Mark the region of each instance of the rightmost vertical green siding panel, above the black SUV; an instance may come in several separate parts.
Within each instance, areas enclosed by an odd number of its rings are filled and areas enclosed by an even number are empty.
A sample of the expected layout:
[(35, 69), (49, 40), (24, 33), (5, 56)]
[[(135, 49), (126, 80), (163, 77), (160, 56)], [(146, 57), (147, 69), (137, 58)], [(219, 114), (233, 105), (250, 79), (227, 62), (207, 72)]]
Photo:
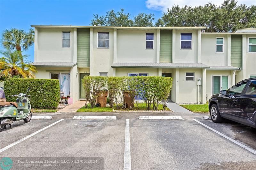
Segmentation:
[(242, 35), (231, 35), (231, 66), (242, 67)]

